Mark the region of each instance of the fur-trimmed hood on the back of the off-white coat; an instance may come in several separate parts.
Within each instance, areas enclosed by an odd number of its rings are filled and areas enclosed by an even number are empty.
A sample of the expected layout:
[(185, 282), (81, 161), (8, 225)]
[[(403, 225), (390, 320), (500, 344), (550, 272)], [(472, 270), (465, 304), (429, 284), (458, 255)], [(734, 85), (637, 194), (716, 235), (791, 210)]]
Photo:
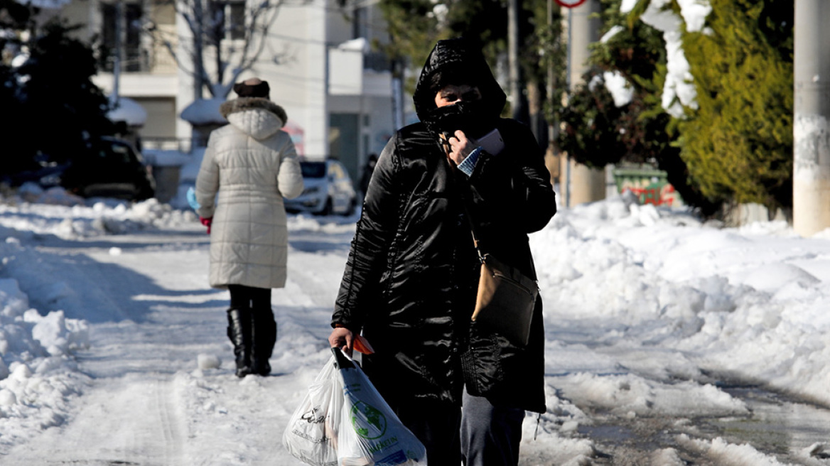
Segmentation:
[(286, 110), (261, 97), (240, 97), (219, 106), (227, 121), (252, 138), (263, 139), (286, 125)]

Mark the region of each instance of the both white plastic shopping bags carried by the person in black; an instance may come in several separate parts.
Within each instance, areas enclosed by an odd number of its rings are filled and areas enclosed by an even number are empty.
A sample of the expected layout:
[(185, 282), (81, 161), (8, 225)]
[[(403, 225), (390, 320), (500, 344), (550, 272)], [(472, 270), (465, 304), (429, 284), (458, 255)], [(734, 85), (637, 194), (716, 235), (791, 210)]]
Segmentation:
[(282, 435), (312, 466), (427, 466), (427, 449), (398, 420), (369, 377), (337, 348)]

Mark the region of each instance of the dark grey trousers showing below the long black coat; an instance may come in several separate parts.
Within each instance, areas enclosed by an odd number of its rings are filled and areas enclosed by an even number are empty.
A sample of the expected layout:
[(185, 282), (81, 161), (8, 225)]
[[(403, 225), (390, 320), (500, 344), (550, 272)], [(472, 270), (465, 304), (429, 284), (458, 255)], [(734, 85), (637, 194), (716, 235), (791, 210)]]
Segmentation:
[[(466, 466), (519, 464), (525, 410), (491, 405), (464, 391), (461, 400), (461, 460)], [(427, 457), (427, 461), (428, 461)]]

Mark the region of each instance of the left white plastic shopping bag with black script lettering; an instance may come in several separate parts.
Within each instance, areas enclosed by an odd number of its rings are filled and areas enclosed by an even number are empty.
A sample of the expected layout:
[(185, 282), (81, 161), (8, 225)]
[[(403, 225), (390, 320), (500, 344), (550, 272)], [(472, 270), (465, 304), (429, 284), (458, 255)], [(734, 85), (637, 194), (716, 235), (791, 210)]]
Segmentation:
[(344, 405), (342, 379), (338, 372), (332, 356), (311, 382), (309, 391), (282, 434), (282, 444), (289, 453), (312, 466), (338, 464), (335, 428)]

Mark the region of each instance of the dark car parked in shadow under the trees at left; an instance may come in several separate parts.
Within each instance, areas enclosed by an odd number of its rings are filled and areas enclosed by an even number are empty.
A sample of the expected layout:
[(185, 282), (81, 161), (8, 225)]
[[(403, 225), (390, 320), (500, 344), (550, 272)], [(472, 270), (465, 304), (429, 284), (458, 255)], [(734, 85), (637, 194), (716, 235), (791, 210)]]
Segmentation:
[(69, 163), (38, 160), (36, 170), (9, 175), (3, 181), (12, 187), (36, 182), (41, 187), (61, 186), (81, 197), (115, 197), (142, 201), (155, 196), (150, 167), (132, 144), (119, 138), (90, 141), (84, 153)]

